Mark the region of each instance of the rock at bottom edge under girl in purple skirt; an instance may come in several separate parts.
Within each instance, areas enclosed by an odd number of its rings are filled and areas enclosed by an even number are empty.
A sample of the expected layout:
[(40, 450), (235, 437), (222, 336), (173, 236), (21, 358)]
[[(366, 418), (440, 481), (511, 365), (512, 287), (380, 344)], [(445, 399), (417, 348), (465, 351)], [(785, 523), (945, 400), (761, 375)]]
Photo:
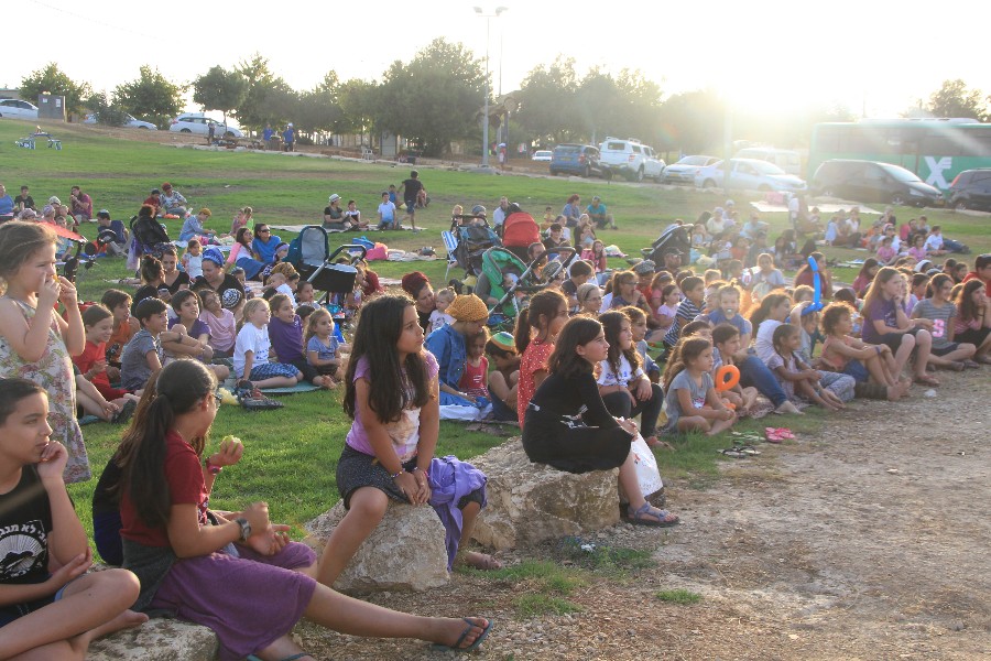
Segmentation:
[(213, 661), (217, 636), (206, 627), (155, 618), (89, 646), (87, 661)]

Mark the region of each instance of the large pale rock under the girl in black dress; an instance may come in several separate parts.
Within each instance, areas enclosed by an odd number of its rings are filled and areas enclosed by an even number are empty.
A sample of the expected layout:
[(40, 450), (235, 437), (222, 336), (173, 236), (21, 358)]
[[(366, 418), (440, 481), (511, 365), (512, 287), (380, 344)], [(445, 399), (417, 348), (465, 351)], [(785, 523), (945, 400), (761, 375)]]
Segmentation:
[(618, 469), (574, 475), (532, 464), (519, 437), (471, 463), (489, 478), (489, 505), (471, 535), (486, 546), (515, 549), (619, 522)]

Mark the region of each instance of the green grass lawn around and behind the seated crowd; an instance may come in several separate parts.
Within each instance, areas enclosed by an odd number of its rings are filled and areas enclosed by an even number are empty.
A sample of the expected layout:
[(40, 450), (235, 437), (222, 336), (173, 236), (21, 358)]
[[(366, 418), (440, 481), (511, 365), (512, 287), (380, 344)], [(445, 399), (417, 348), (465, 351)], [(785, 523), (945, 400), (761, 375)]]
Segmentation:
[[(33, 123), (0, 120), (0, 172), (12, 196), (22, 184), (31, 186), (39, 204), (51, 195), (68, 199), (69, 187), (80, 185), (92, 196), (95, 207), (108, 208), (115, 218), (127, 221), (137, 213), (148, 193), (171, 182), (195, 208), (213, 212), (208, 227), (228, 231), (237, 208), (249, 205), (258, 220), (272, 225), (318, 223), (327, 197), (340, 194), (345, 201), (358, 201), (368, 216), (374, 215), (379, 194), (389, 184), (399, 185), (409, 175), (407, 166), (389, 166), (351, 161), (309, 159), (236, 152), (213, 152), (175, 149), (170, 145), (106, 138), (86, 128), (50, 126), (63, 139), (63, 150), (18, 149), (13, 141), (31, 132)], [(167, 133), (162, 136), (168, 141)], [(421, 167), (421, 178), (433, 199), (427, 209), (417, 213), (417, 225), (425, 231), (370, 234), (369, 238), (405, 250), (433, 246), (443, 253), (440, 231), (447, 229), (450, 208), (461, 204), (466, 208), (481, 203), (492, 209), (500, 196), (521, 204), (534, 216), (542, 216), (549, 205), (555, 213), (568, 195), (577, 193), (588, 201), (600, 195), (616, 215), (619, 230), (602, 232), (607, 243), (616, 243), (623, 251), (639, 256), (661, 230), (675, 218), (691, 220), (705, 209), (721, 204), (722, 195), (707, 194), (691, 188), (662, 187), (653, 184), (630, 185), (603, 181), (579, 181), (564, 177), (482, 176)], [(734, 193), (737, 207), (759, 199)], [(915, 209), (899, 210), (900, 220), (916, 215)], [(945, 210), (927, 212), (930, 224), (944, 227), (947, 237), (968, 243), (974, 254), (991, 250), (991, 220), (983, 215), (955, 214)], [(870, 218), (870, 216), (868, 216)], [(786, 214), (764, 214), (772, 226), (772, 238), (786, 225)], [(170, 234), (178, 236), (181, 221), (168, 221)], [(91, 232), (95, 226), (84, 228)], [(293, 237), (277, 232), (284, 240)], [(827, 249), (830, 257), (856, 259), (865, 252)], [(618, 260), (613, 260), (618, 261)], [(374, 270), (383, 277), (400, 278), (411, 270), (424, 271), (435, 283), (444, 275), (445, 261), (374, 262)], [(128, 275), (122, 259), (101, 259), (96, 268), (80, 271), (80, 297), (99, 300), (102, 292), (118, 279)], [(852, 281), (856, 273), (839, 269), (835, 277)], [(265, 499), (273, 519), (298, 525), (328, 509), (338, 499), (335, 468), (350, 421), (340, 409), (337, 392), (314, 392), (285, 398), (286, 407), (277, 411), (248, 413), (240, 408), (222, 407), (215, 423), (216, 444), (225, 434), (240, 436), (248, 452), (238, 466), (225, 470), (217, 481), (211, 505), (219, 509), (235, 509), (242, 503)], [(807, 416), (803, 424), (819, 424), (821, 418)], [(759, 422), (759, 421), (758, 421)], [(793, 421), (788, 421), (789, 423)], [(750, 423), (754, 429), (758, 423)], [(792, 425), (794, 429), (794, 425)], [(749, 427), (743, 427), (749, 429)], [(119, 440), (120, 427), (94, 424), (84, 427), (86, 445), (95, 473), (102, 470)], [(461, 458), (486, 452), (501, 438), (483, 433), (467, 432), (462, 425), (443, 423), (438, 453), (457, 454)], [(729, 440), (682, 438), (675, 443), (677, 453), (660, 454), (665, 478), (705, 481), (716, 475), (716, 452), (730, 445)], [(208, 449), (210, 452), (210, 449)], [(70, 488), (80, 503), (90, 500), (95, 480)], [(80, 507), (87, 510), (87, 507)], [(89, 512), (80, 511), (89, 525)]]

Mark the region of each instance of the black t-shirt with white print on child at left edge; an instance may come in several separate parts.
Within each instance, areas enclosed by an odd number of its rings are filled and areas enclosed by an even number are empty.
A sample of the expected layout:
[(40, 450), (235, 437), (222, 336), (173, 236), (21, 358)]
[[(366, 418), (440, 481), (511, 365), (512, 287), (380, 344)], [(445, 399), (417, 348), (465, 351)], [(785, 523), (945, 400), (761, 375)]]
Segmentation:
[(34, 465), (0, 495), (0, 584), (43, 583), (48, 578), (52, 506)]

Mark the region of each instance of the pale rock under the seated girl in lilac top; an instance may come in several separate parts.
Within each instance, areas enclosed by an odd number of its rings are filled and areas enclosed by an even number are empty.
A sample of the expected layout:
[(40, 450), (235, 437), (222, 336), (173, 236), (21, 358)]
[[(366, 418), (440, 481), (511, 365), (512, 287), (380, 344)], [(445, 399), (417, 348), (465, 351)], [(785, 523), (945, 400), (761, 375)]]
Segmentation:
[[(347, 510), (344, 501), (306, 524), (303, 540), (318, 553)], [(382, 521), (355, 553), (334, 588), (346, 593), (415, 590), (446, 585), (444, 524), (429, 506), (389, 501)]]

